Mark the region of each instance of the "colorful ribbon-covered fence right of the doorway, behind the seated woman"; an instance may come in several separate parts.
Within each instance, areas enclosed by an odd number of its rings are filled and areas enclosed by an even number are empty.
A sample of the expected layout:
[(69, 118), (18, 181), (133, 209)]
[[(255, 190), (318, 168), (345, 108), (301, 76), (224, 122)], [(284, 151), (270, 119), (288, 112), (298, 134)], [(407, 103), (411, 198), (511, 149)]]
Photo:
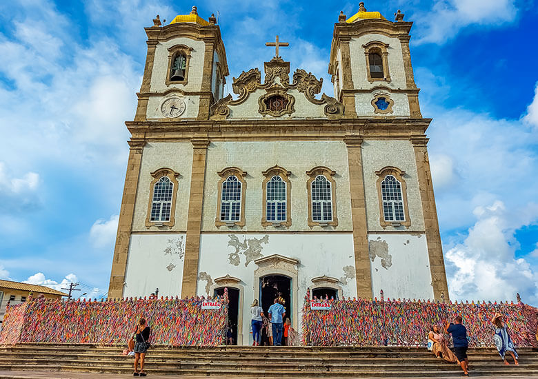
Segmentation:
[(330, 309), (303, 306), (301, 345), (426, 346), (432, 325), (441, 329), (463, 318), (470, 347), (495, 347), (491, 319), (502, 314), (518, 347), (536, 347), (538, 309), (523, 303), (432, 303), (429, 301), (323, 300)]

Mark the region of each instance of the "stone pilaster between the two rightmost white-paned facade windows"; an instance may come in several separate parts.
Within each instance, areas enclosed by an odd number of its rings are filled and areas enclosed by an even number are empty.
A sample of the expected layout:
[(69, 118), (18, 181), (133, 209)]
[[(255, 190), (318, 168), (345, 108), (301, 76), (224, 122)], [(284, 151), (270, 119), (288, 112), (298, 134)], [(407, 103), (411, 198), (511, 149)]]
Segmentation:
[(353, 248), (355, 250), (355, 277), (357, 296), (372, 298), (372, 274), (368, 252), (368, 226), (366, 223), (366, 196), (362, 167), (362, 137), (348, 136), (343, 139), (348, 147), (349, 183), (351, 194), (351, 218), (353, 223)]

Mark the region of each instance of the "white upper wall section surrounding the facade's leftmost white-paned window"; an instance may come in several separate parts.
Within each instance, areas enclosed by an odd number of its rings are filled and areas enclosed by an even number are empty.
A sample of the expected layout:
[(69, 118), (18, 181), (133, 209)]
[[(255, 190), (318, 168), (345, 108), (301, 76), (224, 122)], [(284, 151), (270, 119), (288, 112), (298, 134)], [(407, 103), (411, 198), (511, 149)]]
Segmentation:
[(192, 172), (192, 144), (190, 142), (148, 142), (144, 146), (140, 177), (135, 203), (135, 215), (132, 221), (134, 232), (147, 231), (146, 217), (150, 201), (150, 183), (153, 181), (151, 172), (168, 167), (179, 172), (175, 225), (168, 227), (150, 227), (150, 231), (174, 230), (186, 231), (187, 214), (190, 196), (190, 176)]

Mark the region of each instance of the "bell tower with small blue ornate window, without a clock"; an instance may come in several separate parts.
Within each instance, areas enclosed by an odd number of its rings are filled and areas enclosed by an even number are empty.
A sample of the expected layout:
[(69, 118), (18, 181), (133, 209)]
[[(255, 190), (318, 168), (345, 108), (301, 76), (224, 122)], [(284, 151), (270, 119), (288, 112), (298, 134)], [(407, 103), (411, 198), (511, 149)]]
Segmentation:
[(409, 52), (412, 22), (404, 22), (400, 12), (395, 18), (368, 12), (362, 2), (349, 19), (340, 13), (329, 74), (347, 116), (422, 117)]

